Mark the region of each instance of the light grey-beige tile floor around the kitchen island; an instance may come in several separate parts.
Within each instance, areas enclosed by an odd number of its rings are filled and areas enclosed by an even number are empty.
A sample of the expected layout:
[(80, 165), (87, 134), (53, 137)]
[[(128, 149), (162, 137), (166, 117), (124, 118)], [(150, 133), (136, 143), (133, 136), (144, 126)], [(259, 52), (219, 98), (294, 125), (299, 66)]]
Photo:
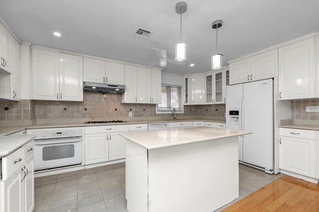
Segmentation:
[[(239, 164), (239, 198), (283, 176)], [(127, 212), (125, 163), (34, 179), (34, 212)]]

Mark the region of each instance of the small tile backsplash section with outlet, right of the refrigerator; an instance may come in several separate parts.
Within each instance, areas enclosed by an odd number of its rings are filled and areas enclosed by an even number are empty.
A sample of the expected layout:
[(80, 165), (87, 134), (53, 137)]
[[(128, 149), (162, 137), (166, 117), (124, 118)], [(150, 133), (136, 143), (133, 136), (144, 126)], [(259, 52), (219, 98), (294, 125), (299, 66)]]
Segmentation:
[(306, 106), (319, 106), (319, 98), (292, 100), (292, 119), (319, 120), (319, 112), (306, 112)]

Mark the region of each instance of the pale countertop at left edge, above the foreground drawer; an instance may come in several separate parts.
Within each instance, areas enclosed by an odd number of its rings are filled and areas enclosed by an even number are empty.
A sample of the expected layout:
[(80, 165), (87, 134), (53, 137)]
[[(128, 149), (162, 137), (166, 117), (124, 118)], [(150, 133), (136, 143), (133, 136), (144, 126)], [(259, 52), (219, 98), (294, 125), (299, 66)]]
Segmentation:
[(9, 155), (34, 138), (35, 136), (31, 135), (0, 136), (0, 158)]

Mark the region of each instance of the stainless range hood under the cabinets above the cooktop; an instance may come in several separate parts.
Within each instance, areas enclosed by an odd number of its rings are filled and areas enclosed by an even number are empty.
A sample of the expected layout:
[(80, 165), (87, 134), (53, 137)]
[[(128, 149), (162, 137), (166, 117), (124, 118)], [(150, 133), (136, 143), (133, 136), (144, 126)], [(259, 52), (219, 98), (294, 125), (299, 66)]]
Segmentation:
[(97, 82), (83, 82), (83, 91), (94, 93), (124, 93), (125, 85), (106, 84)]

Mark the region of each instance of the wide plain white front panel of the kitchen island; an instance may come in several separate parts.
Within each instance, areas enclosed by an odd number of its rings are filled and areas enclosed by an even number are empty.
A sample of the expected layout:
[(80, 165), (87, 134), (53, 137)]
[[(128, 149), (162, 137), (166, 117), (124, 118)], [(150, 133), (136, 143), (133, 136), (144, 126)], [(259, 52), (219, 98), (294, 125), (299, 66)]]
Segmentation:
[(238, 137), (152, 149), (148, 163), (149, 212), (212, 212), (239, 197)]

